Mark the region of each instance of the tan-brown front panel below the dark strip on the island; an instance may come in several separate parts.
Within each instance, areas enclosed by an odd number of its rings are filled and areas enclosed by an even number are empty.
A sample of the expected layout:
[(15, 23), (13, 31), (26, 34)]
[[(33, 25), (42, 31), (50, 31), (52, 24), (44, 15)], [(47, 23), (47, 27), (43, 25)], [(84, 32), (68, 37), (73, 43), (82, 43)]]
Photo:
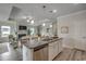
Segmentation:
[(48, 61), (48, 46), (34, 52), (34, 61)]

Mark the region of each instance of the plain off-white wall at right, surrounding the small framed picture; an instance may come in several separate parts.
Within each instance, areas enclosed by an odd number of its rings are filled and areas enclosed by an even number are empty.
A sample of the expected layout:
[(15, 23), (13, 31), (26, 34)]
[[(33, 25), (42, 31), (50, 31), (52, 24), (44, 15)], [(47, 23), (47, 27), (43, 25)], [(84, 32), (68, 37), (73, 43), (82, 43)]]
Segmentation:
[[(62, 26), (69, 27), (69, 34), (61, 34)], [(58, 35), (63, 46), (86, 50), (86, 10), (58, 17)]]

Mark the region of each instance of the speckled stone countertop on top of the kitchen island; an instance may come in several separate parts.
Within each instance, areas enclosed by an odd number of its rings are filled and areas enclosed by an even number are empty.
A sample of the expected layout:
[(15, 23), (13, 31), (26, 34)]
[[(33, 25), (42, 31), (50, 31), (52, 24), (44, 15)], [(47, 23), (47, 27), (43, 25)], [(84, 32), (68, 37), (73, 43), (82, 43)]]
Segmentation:
[(62, 38), (54, 38), (54, 39), (48, 40), (48, 41), (47, 40), (46, 41), (42, 41), (42, 40), (40, 40), (40, 41), (38, 41), (38, 40), (30, 40), (28, 42), (24, 42), (23, 44), (26, 46), (29, 49), (34, 49), (34, 48), (37, 48), (39, 46), (45, 46), (45, 44), (48, 44), (50, 42), (53, 42), (53, 41), (60, 40), (60, 39), (62, 39)]

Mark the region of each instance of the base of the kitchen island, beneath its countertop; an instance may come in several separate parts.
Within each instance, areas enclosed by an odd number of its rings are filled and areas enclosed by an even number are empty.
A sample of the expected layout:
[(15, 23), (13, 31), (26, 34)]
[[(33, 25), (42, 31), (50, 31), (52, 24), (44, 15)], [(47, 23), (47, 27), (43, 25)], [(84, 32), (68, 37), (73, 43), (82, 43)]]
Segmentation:
[(62, 51), (62, 39), (51, 41), (48, 44), (39, 46), (34, 49), (23, 44), (24, 61), (52, 61)]

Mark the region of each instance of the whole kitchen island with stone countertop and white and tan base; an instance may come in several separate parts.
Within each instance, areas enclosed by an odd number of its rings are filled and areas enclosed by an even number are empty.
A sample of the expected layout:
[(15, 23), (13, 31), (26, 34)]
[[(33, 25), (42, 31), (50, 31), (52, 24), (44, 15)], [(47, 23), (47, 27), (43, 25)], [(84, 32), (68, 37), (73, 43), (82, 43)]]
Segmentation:
[(52, 61), (62, 51), (62, 38), (23, 43), (23, 61)]

